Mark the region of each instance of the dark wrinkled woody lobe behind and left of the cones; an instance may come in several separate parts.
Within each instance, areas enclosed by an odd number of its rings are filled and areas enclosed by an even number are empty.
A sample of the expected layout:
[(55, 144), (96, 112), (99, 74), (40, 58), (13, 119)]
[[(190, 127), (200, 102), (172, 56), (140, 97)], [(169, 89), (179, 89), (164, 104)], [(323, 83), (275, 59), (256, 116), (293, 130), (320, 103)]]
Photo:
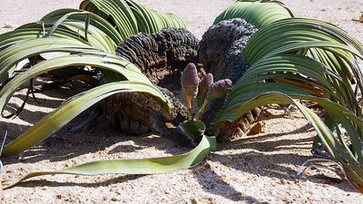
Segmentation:
[(189, 31), (166, 28), (160, 34), (134, 35), (120, 44), (116, 53), (135, 63), (152, 83), (179, 91), (181, 73), (188, 63), (196, 63), (203, 73), (198, 48), (199, 40)]

